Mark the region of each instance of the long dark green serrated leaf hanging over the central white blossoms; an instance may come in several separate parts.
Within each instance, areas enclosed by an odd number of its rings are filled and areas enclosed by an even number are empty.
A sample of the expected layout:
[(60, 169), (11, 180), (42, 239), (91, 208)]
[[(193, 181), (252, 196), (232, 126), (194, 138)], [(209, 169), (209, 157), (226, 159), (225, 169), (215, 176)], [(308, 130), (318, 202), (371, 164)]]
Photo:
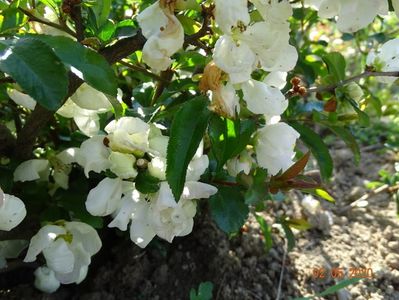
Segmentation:
[(194, 98), (177, 111), (170, 130), (166, 179), (176, 201), (183, 192), (187, 167), (205, 134), (211, 112), (209, 100)]

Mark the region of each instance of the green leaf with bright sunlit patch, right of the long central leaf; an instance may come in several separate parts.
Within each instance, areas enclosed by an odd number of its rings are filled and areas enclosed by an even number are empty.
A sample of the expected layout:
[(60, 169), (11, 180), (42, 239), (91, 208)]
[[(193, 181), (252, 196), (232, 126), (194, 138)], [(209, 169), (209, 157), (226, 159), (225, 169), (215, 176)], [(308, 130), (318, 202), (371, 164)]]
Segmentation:
[(230, 120), (216, 115), (211, 118), (208, 132), (219, 170), (245, 149), (255, 129), (252, 120)]

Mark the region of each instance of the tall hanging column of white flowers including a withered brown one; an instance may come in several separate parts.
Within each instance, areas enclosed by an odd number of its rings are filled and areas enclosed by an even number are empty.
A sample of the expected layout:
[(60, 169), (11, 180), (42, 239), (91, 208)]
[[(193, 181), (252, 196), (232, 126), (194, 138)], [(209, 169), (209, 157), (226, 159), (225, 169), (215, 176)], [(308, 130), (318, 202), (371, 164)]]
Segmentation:
[[(250, 112), (265, 116), (266, 126), (255, 135), (255, 152), (259, 166), (276, 175), (293, 163), (299, 138), (293, 128), (279, 123), (288, 107), (280, 89), (286, 84), (286, 72), (298, 59), (295, 47), (289, 44), (292, 7), (288, 1), (252, 2), (263, 18), (260, 22), (250, 22), (245, 0), (215, 1), (215, 20), (224, 34), (216, 42), (213, 62), (205, 68), (200, 88), (212, 91), (212, 108), (223, 116), (235, 118), (240, 113), (237, 90), (242, 91)], [(258, 68), (270, 72), (263, 81), (251, 78)], [(230, 160), (227, 168), (233, 176), (241, 171), (248, 174), (252, 162), (244, 151)]]

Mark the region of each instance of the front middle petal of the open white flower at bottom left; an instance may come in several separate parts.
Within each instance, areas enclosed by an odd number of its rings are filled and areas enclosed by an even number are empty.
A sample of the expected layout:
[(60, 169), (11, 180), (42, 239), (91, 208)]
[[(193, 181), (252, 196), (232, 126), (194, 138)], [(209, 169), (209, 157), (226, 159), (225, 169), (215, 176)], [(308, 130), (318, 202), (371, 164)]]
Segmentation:
[(43, 249), (47, 266), (56, 273), (70, 273), (73, 270), (75, 257), (67, 242), (60, 238)]

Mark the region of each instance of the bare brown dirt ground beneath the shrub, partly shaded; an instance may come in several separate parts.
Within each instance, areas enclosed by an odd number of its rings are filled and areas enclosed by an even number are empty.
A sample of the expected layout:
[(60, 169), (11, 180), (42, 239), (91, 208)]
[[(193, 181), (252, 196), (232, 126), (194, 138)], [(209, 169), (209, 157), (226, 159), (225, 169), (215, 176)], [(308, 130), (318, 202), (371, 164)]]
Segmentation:
[(367, 193), (365, 180), (378, 178), (381, 168), (393, 168), (394, 157), (373, 147), (362, 152), (361, 164), (356, 167), (344, 145), (334, 146), (336, 171), (330, 191), (337, 203), (322, 202), (321, 217), (312, 219), (304, 212), (299, 193), (291, 193), (288, 201), (268, 204), (264, 217), (269, 224), (274, 211), (307, 216), (314, 225), (295, 232), (297, 244), (289, 253), (281, 230), (273, 227), (274, 246), (266, 254), (253, 217), (245, 230), (229, 239), (202, 214), (188, 237), (176, 239), (172, 245), (159, 241), (145, 250), (107, 229), (103, 251), (93, 259), (81, 285), (63, 286), (55, 294), (43, 295), (32, 287), (34, 266), (16, 267), (0, 271), (0, 299), (189, 299), (190, 289), (204, 281), (214, 284), (213, 299), (292, 299), (334, 285), (335, 279), (329, 276), (314, 278), (316, 267), (327, 272), (337, 267), (346, 272), (352, 267), (373, 270), (373, 279), (324, 299), (399, 299), (395, 203), (381, 193), (371, 197), (366, 207), (348, 206)]

